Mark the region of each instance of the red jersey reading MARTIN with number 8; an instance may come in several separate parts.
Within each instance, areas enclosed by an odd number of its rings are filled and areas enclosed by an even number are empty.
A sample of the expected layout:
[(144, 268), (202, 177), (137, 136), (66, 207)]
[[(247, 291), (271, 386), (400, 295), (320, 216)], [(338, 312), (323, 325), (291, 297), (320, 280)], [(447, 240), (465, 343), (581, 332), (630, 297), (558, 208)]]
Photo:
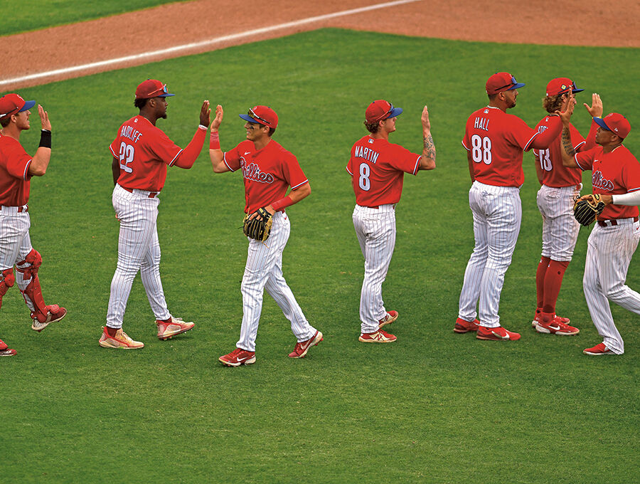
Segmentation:
[(405, 173), (417, 174), (420, 154), (400, 144), (365, 136), (351, 147), (346, 171), (351, 175), (356, 204), (379, 206), (397, 204), (402, 195)]

